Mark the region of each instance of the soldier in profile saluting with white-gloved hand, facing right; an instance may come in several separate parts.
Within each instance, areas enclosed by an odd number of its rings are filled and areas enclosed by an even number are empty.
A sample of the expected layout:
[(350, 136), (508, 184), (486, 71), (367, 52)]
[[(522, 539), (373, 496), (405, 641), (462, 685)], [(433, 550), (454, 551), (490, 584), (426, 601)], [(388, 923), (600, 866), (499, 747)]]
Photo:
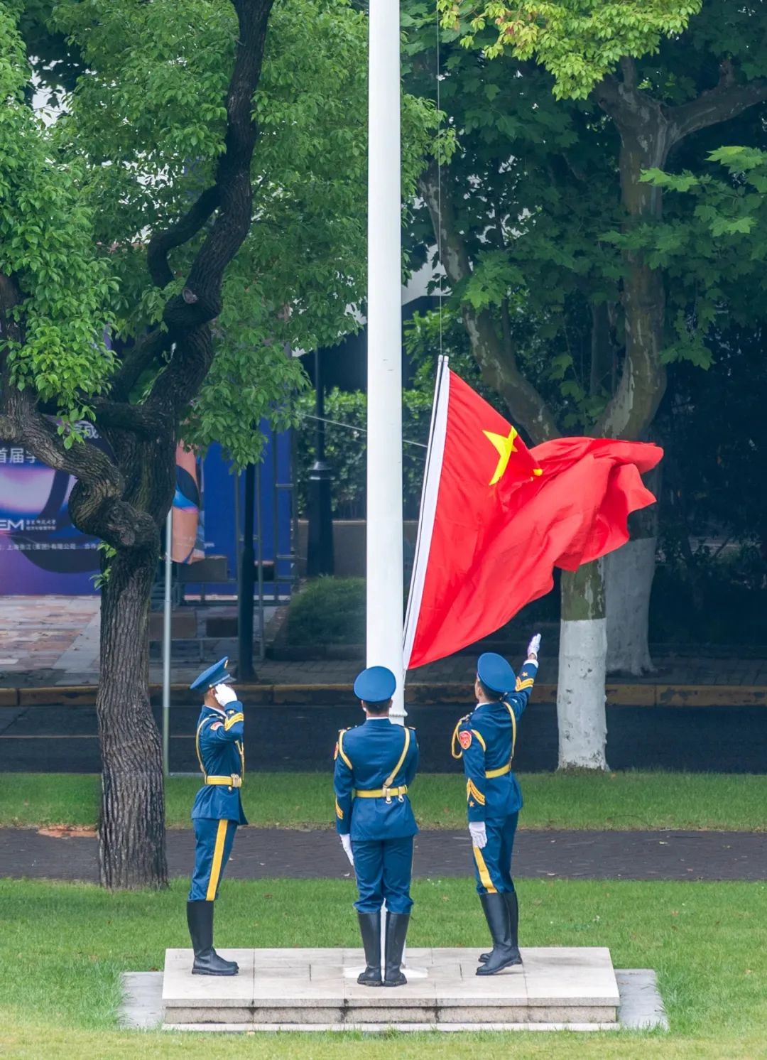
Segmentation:
[(227, 682), (228, 658), (219, 659), (190, 685), (204, 691), (195, 745), (202, 787), (192, 807), (195, 867), (186, 902), (186, 922), (195, 959), (193, 975), (236, 975), (235, 960), (213, 949), (213, 903), (234, 842), (237, 825), (247, 825), (239, 789), (245, 773), (243, 704)]

